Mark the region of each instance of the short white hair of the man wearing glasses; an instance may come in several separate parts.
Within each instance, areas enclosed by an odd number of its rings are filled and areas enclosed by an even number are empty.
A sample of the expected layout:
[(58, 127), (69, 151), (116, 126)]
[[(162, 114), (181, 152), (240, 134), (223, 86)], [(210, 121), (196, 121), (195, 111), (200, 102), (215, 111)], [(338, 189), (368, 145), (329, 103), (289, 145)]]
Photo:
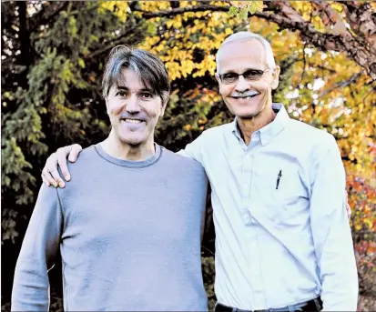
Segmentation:
[(259, 40), (261, 45), (264, 46), (265, 49), (265, 55), (266, 55), (266, 65), (269, 69), (274, 69), (276, 66), (276, 61), (274, 60), (273, 56), (273, 50), (271, 49), (271, 46), (269, 44), (269, 41), (265, 39), (262, 35), (255, 34), (255, 33), (250, 33), (250, 32), (239, 32), (235, 33), (232, 35), (229, 35), (226, 40), (219, 46), (217, 55), (216, 55), (216, 62), (217, 62), (217, 73), (219, 73), (219, 53), (220, 53), (220, 48), (223, 45), (228, 44), (229, 42), (234, 42), (234, 41), (246, 41), (246, 40)]

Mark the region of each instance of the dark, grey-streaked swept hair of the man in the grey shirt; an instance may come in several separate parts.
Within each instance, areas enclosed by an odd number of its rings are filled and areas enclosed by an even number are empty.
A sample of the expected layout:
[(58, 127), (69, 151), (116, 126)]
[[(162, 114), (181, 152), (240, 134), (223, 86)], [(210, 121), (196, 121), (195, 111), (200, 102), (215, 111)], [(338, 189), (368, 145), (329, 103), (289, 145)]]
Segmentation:
[(141, 79), (144, 86), (150, 88), (155, 95), (160, 96), (162, 105), (168, 102), (170, 83), (168, 71), (158, 56), (142, 49), (130, 48), (127, 45), (114, 47), (106, 64), (102, 80), (102, 95), (108, 96), (111, 86), (124, 86), (122, 70), (133, 70)]

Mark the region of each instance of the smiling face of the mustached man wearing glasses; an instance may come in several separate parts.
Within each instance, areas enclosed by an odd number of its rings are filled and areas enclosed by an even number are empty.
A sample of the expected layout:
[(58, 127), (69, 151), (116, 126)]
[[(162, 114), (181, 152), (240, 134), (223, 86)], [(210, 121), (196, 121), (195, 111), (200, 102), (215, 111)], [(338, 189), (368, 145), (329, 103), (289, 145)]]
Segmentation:
[[(217, 61), (219, 92), (235, 116), (252, 118), (271, 107), (271, 90), (278, 86), (279, 66), (267, 68), (265, 49), (259, 40), (229, 42), (220, 48)], [(246, 78), (239, 76), (231, 82), (234, 74), (244, 73)]]

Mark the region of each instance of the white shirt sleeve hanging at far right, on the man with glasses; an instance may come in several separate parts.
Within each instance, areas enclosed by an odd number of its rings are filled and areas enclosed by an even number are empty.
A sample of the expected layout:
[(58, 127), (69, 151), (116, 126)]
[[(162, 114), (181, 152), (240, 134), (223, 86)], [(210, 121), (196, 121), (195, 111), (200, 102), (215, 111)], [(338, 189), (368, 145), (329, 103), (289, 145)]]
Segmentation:
[(345, 171), (333, 136), (311, 167), (310, 221), (324, 311), (356, 311), (358, 274), (346, 215)]

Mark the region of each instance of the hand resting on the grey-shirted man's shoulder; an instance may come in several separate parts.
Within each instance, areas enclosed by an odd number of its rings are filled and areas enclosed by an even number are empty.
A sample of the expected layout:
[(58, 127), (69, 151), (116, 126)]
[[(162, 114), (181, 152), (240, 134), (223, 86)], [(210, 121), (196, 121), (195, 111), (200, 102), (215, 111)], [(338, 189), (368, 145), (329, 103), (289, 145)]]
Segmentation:
[(45, 182), (47, 186), (53, 185), (55, 187), (65, 187), (66, 184), (59, 175), (57, 166), (60, 166), (65, 180), (69, 181), (70, 175), (68, 167), (66, 166), (66, 156), (68, 156), (68, 159), (71, 163), (74, 163), (81, 151), (82, 146), (78, 144), (58, 148), (56, 152), (51, 154), (51, 156), (49, 156), (46, 160), (46, 165), (42, 170), (43, 182)]

